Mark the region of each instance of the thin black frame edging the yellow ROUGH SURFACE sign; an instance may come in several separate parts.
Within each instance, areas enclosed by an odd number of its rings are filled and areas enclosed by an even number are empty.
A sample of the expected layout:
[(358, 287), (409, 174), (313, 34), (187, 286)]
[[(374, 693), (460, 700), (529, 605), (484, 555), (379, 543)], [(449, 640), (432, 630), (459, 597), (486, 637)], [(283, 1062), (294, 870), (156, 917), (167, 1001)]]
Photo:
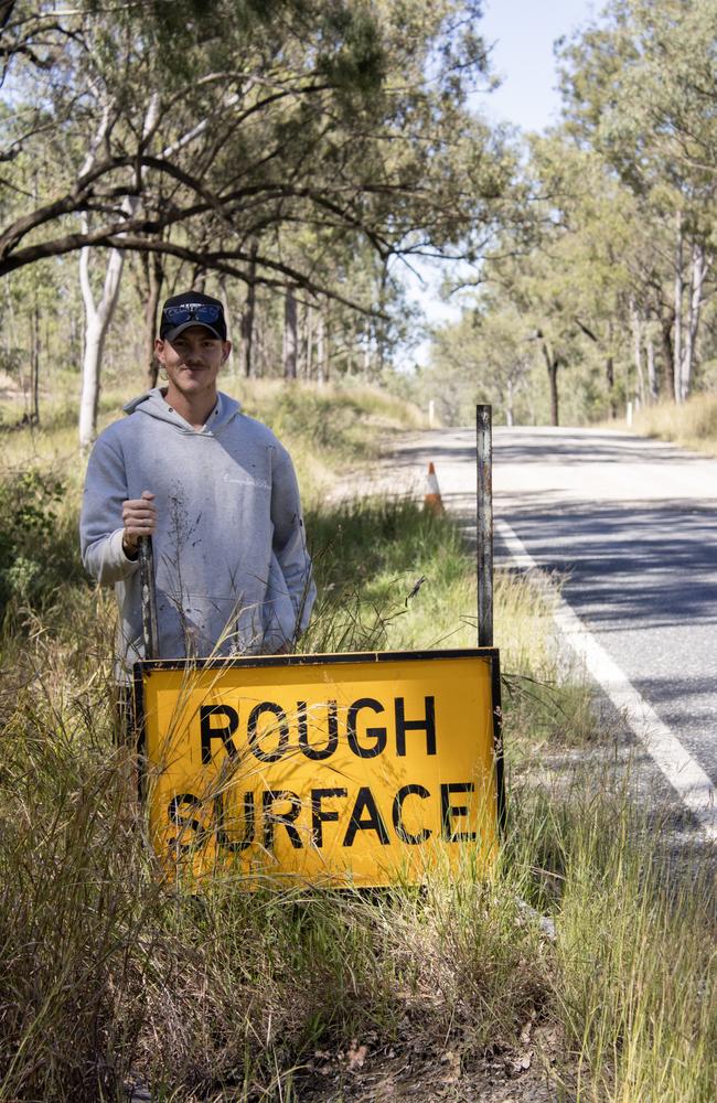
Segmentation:
[(143, 658), (133, 665), (133, 730), (138, 760), (138, 793), (140, 803), (147, 803), (148, 777), (146, 757), (146, 703), (145, 677), (152, 671), (222, 671), (312, 666), (342, 666), (355, 663), (376, 665), (384, 663), (414, 663), (457, 658), (483, 658), (490, 663), (491, 703), (493, 713), (493, 763), (495, 771), (495, 824), (499, 843), (505, 836), (506, 800), (503, 758), (503, 713), (501, 704), (500, 653), (496, 647), (456, 647), (435, 651), (368, 651), (328, 654), (292, 655), (237, 655), (214, 658)]

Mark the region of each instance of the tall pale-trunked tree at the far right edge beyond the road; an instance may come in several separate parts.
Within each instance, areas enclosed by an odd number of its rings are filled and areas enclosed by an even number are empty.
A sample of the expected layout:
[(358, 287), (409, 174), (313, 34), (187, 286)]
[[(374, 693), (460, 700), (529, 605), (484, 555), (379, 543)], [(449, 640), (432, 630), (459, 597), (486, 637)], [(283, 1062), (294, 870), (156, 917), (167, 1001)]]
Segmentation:
[(567, 128), (619, 174), (661, 243), (653, 310), (656, 300), (677, 401), (689, 393), (714, 289), (716, 51), (713, 0), (612, 0), (561, 52)]

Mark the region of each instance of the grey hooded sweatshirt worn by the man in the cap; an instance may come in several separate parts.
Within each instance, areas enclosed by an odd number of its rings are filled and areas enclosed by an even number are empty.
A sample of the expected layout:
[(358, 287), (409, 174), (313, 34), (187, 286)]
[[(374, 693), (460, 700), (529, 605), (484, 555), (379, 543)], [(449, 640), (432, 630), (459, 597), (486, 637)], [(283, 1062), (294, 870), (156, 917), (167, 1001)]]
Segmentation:
[(291, 459), (220, 394), (196, 432), (159, 389), (128, 403), (89, 458), (79, 536), (86, 570), (114, 583), (117, 677), (143, 655), (139, 565), (122, 552), (122, 502), (156, 495), (160, 656), (274, 653), (315, 597)]

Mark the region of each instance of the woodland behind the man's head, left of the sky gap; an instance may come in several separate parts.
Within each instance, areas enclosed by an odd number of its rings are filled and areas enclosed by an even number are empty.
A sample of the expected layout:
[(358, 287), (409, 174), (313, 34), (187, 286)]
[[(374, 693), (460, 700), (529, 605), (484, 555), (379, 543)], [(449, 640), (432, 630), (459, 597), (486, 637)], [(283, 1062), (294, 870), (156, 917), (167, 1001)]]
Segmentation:
[[(478, 255), (514, 153), (471, 115), (479, 6), (4, 2), (2, 371), (26, 419), (156, 381), (158, 303), (218, 293), (245, 376), (381, 376), (399, 259)], [(237, 366), (236, 364), (234, 365)]]

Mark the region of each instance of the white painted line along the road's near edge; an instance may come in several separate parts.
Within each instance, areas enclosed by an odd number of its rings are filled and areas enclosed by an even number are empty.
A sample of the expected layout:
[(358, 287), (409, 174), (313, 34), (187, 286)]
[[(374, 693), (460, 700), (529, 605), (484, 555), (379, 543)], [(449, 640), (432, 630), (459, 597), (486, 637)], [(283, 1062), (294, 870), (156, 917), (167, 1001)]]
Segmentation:
[[(514, 564), (525, 569), (539, 567), (523, 542), (505, 521), (496, 521), (495, 529), (506, 545)], [(545, 578), (545, 576), (544, 576)], [(547, 578), (545, 583), (549, 585)], [(634, 688), (627, 675), (607, 653), (564, 598), (555, 592), (554, 619), (567, 642), (584, 660), (586, 670), (604, 689), (616, 708), (644, 745), (684, 804), (694, 813), (703, 833), (717, 840), (717, 807), (715, 786), (698, 762), (682, 746), (652, 705)]]

